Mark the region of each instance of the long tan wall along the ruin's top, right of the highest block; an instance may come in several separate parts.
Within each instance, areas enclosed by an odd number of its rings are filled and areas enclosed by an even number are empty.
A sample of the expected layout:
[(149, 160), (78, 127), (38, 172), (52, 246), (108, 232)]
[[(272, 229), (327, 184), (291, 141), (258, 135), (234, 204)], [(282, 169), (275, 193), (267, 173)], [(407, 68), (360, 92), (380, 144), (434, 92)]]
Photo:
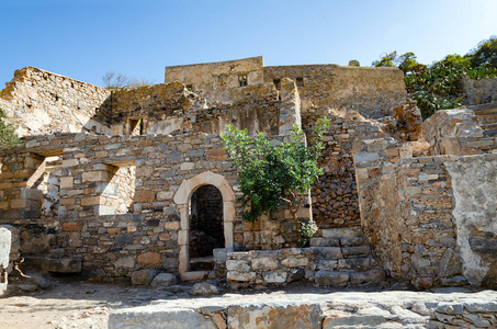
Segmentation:
[(355, 110), (365, 117), (392, 115), (407, 93), (404, 75), (397, 68), (370, 68), (337, 65), (264, 67), (264, 81), (283, 78), (297, 80), (302, 112), (330, 106)]

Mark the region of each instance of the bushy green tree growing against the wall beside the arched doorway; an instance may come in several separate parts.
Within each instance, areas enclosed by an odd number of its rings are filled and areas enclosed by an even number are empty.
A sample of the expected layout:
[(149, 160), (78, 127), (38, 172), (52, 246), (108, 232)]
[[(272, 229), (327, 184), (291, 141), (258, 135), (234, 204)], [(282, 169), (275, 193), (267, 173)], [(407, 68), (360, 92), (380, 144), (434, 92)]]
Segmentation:
[(304, 195), (323, 174), (318, 157), (325, 148), (323, 134), (328, 127), (326, 117), (319, 120), (305, 145), (303, 132), (294, 126), (290, 140), (272, 146), (262, 133), (252, 138), (246, 129), (228, 126), (222, 138), (231, 166), (239, 168), (241, 202), (248, 209), (242, 214), (244, 220), (257, 220), (284, 203), (292, 214), (301, 243), (316, 231), (317, 228), (313, 230), (306, 225), (302, 229), (297, 212)]

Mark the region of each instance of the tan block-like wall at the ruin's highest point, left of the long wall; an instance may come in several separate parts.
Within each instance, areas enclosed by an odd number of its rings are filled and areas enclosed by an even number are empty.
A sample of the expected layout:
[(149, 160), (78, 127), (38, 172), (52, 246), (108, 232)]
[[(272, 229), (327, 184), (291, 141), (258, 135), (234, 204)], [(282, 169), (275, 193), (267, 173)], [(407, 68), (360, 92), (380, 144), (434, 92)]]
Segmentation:
[(248, 86), (263, 82), (263, 59), (251, 57), (238, 60), (169, 66), (166, 67), (165, 82), (180, 81), (192, 87), (192, 91), (210, 102), (231, 103), (239, 101), (236, 95), (238, 77), (247, 76)]

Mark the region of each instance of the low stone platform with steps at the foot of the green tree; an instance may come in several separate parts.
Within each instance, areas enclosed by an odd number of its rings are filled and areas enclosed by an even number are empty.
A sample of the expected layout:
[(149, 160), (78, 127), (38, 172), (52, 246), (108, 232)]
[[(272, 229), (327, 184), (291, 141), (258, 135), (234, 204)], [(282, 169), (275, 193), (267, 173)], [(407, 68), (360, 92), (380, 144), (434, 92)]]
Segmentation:
[[(357, 242), (364, 243), (362, 234)], [(343, 256), (342, 250), (363, 247), (366, 247), (365, 253)], [(377, 268), (369, 246), (229, 252), (226, 269), (228, 284), (234, 288), (285, 286), (300, 280), (320, 286), (347, 286), (377, 284), (385, 279), (385, 272)]]

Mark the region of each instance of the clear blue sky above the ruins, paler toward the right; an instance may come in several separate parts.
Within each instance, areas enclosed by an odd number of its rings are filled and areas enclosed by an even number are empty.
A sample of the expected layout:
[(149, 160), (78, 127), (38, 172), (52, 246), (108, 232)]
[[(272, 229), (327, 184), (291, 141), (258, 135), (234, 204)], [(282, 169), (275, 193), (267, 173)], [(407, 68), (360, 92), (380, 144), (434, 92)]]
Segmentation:
[(260, 55), (430, 64), (497, 35), (496, 16), (496, 0), (1, 0), (0, 89), (25, 66), (101, 86), (108, 71), (159, 83), (166, 66)]

